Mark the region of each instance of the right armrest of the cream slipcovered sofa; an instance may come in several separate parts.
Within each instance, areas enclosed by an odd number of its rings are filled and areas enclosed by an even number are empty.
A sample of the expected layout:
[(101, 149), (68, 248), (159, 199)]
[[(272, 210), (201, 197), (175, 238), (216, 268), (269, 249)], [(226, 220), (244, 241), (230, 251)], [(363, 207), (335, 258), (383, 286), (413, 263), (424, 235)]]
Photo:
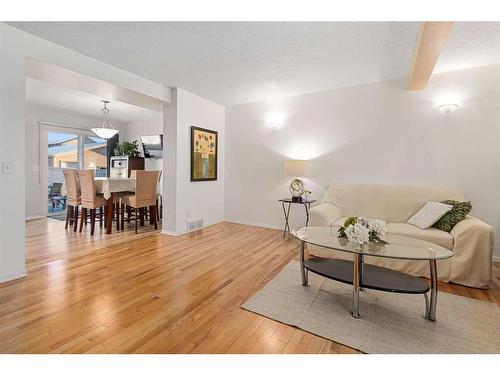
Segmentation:
[(488, 288), (491, 281), (493, 228), (473, 216), (459, 222), (453, 236), (450, 281), (475, 288)]

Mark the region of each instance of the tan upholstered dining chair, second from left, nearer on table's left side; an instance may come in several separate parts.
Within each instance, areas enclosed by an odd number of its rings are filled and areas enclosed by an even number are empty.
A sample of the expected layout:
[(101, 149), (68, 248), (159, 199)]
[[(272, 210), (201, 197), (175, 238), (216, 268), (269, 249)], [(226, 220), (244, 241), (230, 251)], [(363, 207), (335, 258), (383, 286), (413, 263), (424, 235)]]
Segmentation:
[(82, 205), (82, 217), (80, 220), (79, 232), (83, 229), (83, 224), (87, 217), (87, 210), (89, 210), (90, 216), (90, 235), (94, 235), (95, 231), (95, 218), (96, 209), (100, 209), (100, 217), (102, 226), (102, 216), (104, 207), (107, 204), (104, 197), (98, 196), (96, 194), (96, 188), (94, 183), (94, 171), (91, 169), (78, 171), (78, 178), (80, 179), (80, 189), (81, 189), (81, 205)]

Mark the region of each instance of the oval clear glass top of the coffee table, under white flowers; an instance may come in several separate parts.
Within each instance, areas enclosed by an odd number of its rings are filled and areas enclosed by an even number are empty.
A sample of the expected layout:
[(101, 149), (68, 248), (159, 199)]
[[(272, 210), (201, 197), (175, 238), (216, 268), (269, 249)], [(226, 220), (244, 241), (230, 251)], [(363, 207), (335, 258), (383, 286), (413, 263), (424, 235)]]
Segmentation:
[(388, 233), (384, 243), (370, 242), (358, 245), (347, 238), (338, 238), (339, 227), (305, 227), (291, 234), (305, 243), (335, 251), (394, 259), (441, 260), (453, 256), (453, 252), (431, 242)]

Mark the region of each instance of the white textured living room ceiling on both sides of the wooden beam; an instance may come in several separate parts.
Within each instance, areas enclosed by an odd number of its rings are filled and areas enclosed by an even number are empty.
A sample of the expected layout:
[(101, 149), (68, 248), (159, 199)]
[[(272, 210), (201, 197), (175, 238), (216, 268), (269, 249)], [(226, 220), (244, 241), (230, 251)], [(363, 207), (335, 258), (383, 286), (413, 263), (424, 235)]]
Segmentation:
[[(223, 105), (408, 76), (418, 22), (13, 22)], [(442, 72), (500, 63), (500, 23), (458, 22)]]

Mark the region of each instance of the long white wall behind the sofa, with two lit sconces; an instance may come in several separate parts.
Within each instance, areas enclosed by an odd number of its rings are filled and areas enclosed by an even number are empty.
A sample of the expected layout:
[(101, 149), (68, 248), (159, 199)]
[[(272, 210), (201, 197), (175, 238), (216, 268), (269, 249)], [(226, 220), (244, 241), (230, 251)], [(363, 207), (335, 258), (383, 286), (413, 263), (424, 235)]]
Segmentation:
[[(449, 101), (459, 109), (436, 108)], [(497, 65), (433, 76), (422, 91), (401, 80), (228, 107), (226, 218), (281, 227), (284, 161), (312, 159), (316, 199), (330, 182), (459, 188), (500, 245), (499, 103)], [(271, 112), (286, 117), (281, 128), (266, 126)]]

